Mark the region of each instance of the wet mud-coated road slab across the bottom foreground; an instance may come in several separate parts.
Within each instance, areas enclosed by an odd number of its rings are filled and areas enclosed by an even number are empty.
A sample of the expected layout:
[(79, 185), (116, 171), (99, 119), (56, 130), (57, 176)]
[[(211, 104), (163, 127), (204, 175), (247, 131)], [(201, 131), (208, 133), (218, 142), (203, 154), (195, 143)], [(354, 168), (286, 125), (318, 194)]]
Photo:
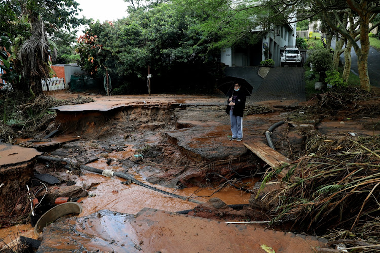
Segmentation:
[[(183, 226), (186, 224), (186, 226)], [(37, 252), (314, 252), (327, 242), (261, 225), (224, 222), (143, 208), (137, 215), (100, 210), (44, 228)]]

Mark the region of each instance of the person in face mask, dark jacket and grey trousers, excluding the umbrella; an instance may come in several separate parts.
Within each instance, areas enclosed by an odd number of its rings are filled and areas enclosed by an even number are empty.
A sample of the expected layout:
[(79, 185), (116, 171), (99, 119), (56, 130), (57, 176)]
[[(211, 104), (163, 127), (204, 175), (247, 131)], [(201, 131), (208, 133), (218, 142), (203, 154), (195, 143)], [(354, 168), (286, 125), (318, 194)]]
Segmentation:
[(239, 83), (235, 83), (234, 90), (228, 94), (227, 108), (225, 112), (230, 114), (232, 137), (230, 141), (243, 139), (243, 111), (245, 108), (245, 95), (240, 90)]

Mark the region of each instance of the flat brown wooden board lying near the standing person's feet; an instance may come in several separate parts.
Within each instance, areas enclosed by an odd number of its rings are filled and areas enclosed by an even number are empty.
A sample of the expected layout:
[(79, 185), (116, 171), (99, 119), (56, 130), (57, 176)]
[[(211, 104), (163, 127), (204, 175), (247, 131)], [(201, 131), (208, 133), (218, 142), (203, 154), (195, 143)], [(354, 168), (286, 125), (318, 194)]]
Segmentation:
[(269, 146), (263, 144), (262, 142), (243, 142), (249, 150), (251, 150), (255, 155), (261, 158), (263, 161), (267, 162), (271, 167), (279, 167), (284, 162), (291, 162), (290, 159), (286, 158), (276, 150), (273, 150)]

